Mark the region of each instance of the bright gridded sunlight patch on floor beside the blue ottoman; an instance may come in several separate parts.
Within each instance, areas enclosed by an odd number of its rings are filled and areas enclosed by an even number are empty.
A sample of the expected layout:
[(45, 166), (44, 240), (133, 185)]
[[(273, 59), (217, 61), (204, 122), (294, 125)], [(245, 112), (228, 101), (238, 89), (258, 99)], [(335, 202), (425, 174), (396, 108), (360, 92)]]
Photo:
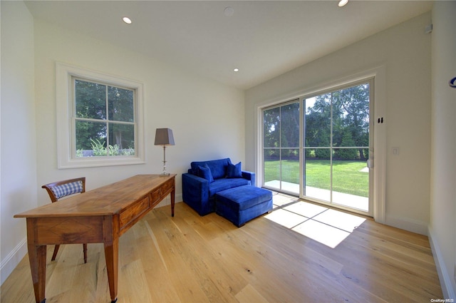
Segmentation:
[(274, 195), (273, 203), (274, 210), (264, 216), (266, 219), (331, 248), (339, 245), (366, 220), (282, 194)]

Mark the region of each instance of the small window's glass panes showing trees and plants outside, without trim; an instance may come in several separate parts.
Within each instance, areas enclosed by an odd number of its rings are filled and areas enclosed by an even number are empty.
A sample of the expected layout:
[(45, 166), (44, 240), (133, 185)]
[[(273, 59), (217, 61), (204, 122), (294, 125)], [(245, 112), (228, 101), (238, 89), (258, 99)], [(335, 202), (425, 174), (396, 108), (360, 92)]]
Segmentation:
[(76, 158), (135, 156), (135, 90), (73, 78)]

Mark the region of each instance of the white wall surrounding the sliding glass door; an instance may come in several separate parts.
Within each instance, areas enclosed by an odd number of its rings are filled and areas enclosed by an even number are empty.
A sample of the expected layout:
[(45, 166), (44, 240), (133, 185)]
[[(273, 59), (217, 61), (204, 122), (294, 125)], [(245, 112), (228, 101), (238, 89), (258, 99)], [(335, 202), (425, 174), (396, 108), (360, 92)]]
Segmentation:
[[(246, 91), (247, 168), (256, 161), (256, 108), (309, 90), (385, 68), (385, 222), (426, 233), (430, 207), (430, 12), (319, 58)], [(377, 100), (378, 102), (380, 100)], [(400, 148), (392, 155), (391, 148)]]

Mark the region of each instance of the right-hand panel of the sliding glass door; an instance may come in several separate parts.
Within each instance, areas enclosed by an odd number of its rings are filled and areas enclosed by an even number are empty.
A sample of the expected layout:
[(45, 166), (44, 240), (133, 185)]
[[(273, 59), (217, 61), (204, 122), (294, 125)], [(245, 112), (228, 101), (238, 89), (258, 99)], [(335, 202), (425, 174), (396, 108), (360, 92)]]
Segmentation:
[(304, 99), (303, 195), (369, 211), (370, 83)]

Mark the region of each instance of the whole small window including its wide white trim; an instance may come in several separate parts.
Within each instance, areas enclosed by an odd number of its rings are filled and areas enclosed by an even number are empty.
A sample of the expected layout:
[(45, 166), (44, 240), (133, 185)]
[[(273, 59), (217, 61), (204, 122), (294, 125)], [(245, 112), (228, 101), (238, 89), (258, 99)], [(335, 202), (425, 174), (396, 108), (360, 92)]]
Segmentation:
[(142, 83), (57, 63), (58, 168), (144, 163)]

